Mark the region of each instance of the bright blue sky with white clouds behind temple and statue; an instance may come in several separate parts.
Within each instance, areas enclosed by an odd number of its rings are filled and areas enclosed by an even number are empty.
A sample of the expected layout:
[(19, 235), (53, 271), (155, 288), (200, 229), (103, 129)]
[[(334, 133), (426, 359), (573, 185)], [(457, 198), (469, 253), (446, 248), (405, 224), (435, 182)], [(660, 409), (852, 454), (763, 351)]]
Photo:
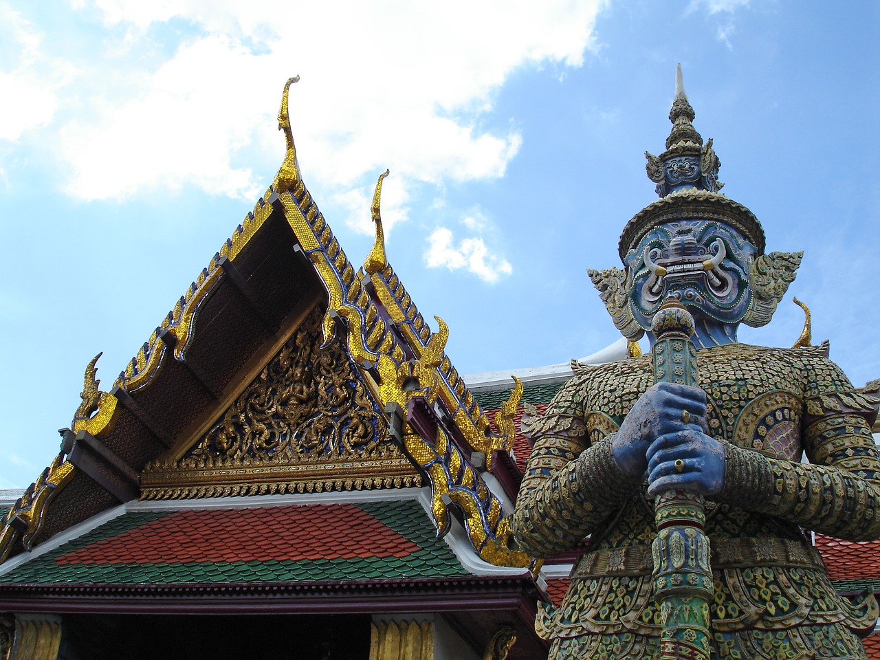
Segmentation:
[[(320, 5), (320, 6), (316, 6)], [(326, 5), (326, 6), (325, 6)], [(359, 263), (379, 172), (392, 266), (462, 373), (620, 335), (586, 268), (656, 195), (676, 62), (724, 193), (805, 252), (765, 328), (880, 377), (880, 4), (0, 1), (0, 488), (106, 389), (273, 179), (282, 85), (306, 185)]]

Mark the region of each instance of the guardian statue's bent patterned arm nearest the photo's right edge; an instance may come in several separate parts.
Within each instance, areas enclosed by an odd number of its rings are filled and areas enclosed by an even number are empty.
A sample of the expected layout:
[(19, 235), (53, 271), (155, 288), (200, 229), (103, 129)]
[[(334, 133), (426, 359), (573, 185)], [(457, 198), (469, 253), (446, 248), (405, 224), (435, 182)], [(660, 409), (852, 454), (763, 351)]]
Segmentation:
[(835, 381), (831, 392), (804, 401), (810, 463), (730, 446), (718, 499), (841, 539), (880, 537), (880, 455), (870, 433), (875, 403), (853, 392), (842, 373)]

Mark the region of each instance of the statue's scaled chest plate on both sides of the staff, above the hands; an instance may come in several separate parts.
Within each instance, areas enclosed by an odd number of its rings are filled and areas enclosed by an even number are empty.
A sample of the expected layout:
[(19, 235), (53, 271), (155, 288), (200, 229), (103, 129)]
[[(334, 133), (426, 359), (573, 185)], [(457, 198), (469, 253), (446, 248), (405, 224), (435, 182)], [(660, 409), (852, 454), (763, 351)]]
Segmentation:
[[(698, 354), (700, 386), (708, 394), (709, 433), (773, 458), (799, 460), (803, 374), (793, 364), (761, 357), (749, 350)], [(585, 420), (590, 440), (617, 430), (653, 382), (649, 358), (594, 379)]]

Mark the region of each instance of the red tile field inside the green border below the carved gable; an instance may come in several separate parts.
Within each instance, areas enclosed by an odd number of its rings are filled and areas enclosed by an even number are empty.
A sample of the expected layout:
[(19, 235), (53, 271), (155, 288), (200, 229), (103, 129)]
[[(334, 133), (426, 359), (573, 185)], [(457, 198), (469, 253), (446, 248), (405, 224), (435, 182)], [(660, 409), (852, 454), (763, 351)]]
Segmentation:
[(409, 539), (353, 504), (175, 511), (55, 558), (141, 564), (407, 557)]

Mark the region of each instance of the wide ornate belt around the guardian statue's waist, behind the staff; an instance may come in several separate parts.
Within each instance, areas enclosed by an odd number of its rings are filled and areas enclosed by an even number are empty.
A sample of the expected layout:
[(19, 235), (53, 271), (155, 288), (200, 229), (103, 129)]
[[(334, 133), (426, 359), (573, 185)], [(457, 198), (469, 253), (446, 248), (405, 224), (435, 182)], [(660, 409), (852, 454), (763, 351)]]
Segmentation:
[[(709, 539), (713, 570), (775, 566), (821, 568), (822, 555), (803, 541), (790, 539), (746, 538)], [(650, 546), (624, 546), (612, 550), (585, 553), (571, 571), (571, 579), (602, 576), (649, 575), (654, 569)]]

